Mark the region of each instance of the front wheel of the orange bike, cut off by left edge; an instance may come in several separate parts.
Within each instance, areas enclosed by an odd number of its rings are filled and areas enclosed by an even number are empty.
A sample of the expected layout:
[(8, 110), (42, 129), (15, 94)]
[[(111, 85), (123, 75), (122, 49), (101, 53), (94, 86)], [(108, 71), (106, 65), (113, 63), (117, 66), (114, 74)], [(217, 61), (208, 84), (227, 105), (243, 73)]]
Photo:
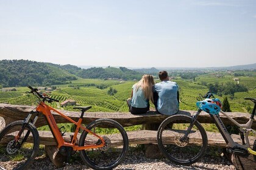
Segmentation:
[(21, 146), (12, 146), (23, 124), (23, 120), (14, 121), (0, 132), (0, 169), (26, 169), (34, 160), (39, 149), (39, 134), (34, 124), (27, 124), (17, 145), (21, 144), (28, 131), (29, 138)]

